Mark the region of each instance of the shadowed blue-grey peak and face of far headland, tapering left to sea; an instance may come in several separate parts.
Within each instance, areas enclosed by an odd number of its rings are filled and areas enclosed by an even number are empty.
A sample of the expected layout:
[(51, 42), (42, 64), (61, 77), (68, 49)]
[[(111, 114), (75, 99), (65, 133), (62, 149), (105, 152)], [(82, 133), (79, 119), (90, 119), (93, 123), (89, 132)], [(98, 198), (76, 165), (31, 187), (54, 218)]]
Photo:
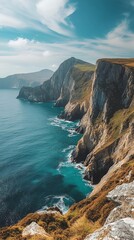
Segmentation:
[[(23, 87), (20, 90), (18, 98), (23, 98), (33, 102), (57, 101), (57, 105), (65, 106), (69, 101), (70, 88), (72, 84), (72, 69), (76, 64), (87, 64), (82, 60), (70, 58), (63, 62), (53, 76), (45, 81), (38, 88)], [(64, 97), (62, 93), (64, 92)]]

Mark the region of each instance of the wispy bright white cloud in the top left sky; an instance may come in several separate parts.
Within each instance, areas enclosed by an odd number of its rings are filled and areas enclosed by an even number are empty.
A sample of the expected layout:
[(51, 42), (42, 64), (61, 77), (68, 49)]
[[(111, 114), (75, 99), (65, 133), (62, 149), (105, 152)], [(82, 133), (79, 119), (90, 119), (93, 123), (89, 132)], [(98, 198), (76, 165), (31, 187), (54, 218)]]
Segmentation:
[(1, 0), (0, 26), (34, 28), (70, 36), (68, 17), (76, 10), (70, 0)]

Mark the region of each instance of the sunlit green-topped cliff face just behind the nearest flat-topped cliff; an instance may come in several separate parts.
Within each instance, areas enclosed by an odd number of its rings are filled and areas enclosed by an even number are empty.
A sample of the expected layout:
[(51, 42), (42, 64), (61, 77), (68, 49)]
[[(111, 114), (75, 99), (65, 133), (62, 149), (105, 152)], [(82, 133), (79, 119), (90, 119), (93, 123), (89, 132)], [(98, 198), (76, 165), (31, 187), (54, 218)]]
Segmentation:
[(73, 69), (70, 97), (65, 106), (63, 118), (68, 120), (81, 119), (89, 108), (89, 99), (94, 71), (82, 72), (77, 67)]

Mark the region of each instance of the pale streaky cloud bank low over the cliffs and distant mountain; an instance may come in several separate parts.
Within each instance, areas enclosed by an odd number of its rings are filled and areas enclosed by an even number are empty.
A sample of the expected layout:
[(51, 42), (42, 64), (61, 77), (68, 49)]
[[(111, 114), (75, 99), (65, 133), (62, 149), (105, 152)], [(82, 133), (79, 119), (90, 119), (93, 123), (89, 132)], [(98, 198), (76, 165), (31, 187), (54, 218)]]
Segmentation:
[(56, 70), (65, 59), (74, 56), (95, 63), (98, 58), (133, 57), (134, 33), (127, 20), (122, 21), (104, 38), (66, 40), (45, 43), (26, 38), (0, 42), (0, 74), (6, 76), (43, 68)]

